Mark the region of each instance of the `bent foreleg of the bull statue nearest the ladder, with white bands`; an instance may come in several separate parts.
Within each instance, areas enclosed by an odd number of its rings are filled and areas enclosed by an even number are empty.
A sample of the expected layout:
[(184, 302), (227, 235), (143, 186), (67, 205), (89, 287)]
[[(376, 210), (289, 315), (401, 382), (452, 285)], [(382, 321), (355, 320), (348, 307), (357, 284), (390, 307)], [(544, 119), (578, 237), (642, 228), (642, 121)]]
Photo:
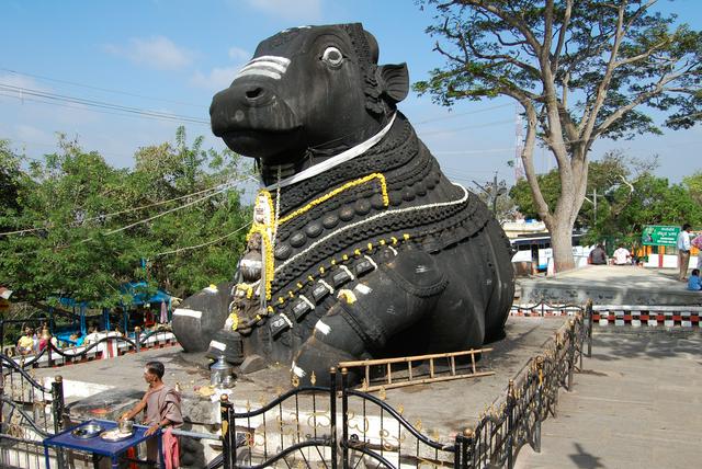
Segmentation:
[(303, 344), (293, 374), (308, 382), (314, 371), (316, 382), (328, 386), (330, 367), (383, 351), (394, 336), (431, 313), (446, 285), (431, 255), (400, 252), (362, 282), (336, 293), (338, 301)]

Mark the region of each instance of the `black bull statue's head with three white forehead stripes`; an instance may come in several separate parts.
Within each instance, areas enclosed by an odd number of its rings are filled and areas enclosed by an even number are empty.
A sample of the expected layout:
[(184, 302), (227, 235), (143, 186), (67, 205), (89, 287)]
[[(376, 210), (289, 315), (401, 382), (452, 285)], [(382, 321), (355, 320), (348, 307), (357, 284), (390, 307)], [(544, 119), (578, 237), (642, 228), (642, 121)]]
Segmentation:
[(298, 172), (376, 134), (405, 99), (407, 66), (377, 59), (360, 23), (285, 30), (214, 96), (213, 133), (263, 167)]

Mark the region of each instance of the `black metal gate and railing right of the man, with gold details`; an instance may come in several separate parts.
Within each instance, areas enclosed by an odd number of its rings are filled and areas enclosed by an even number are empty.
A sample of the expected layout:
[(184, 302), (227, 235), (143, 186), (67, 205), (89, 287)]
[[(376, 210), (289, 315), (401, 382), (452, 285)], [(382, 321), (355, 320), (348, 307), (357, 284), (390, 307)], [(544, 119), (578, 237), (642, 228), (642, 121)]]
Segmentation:
[[(532, 308), (539, 313), (547, 310), (544, 305)], [(591, 353), (591, 302), (585, 307), (559, 305), (561, 308), (571, 318), (543, 353), (532, 357), (509, 380), (503, 397), (455, 438), (442, 441), (438, 434), (428, 435), (420, 421), (411, 424), (403, 415), (403, 409), (394, 409), (384, 400), (384, 390), (374, 396), (353, 389), (346, 369), (341, 369), (341, 386), (337, 389), (337, 373), (332, 368), (331, 387), (294, 388), (258, 410), (250, 410), (247, 403), (246, 412), (235, 412), (234, 404), (223, 399), (223, 455), (208, 467), (258, 469), (278, 462), (287, 467), (343, 469), (400, 466), (511, 469), (524, 445), (541, 450), (542, 421), (556, 415), (559, 390), (573, 388), (574, 374), (582, 369), (586, 343), (587, 355)], [(309, 396), (312, 404), (301, 407), (302, 396)], [(337, 415), (338, 398), (340, 415)], [(324, 407), (321, 412), (319, 405)], [(309, 424), (302, 425), (306, 420)], [(305, 432), (303, 426), (309, 431)], [(318, 431), (320, 427), (322, 432)]]

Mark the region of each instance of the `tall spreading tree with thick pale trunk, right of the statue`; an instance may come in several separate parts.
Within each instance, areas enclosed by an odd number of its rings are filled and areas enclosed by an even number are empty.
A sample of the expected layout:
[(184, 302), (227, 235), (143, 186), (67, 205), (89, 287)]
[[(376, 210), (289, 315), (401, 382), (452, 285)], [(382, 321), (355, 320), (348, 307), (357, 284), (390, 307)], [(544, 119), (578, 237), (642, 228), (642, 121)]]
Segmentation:
[[(534, 208), (551, 232), (557, 271), (573, 268), (571, 237), (587, 194), (588, 156), (598, 138), (660, 133), (702, 117), (702, 34), (653, 12), (655, 0), (424, 0), (435, 8), (435, 50), (445, 67), (415, 84), (451, 105), (499, 95), (526, 117), (522, 162)], [(534, 168), (543, 144), (558, 168), (550, 201)], [(548, 188), (548, 187), (546, 187)]]

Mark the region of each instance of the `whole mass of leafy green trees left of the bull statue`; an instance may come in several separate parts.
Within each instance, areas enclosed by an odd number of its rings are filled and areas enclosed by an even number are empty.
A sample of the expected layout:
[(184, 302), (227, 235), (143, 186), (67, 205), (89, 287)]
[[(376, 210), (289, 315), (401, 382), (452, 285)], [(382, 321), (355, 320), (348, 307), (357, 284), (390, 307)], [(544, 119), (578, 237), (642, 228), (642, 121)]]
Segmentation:
[(0, 225), (23, 231), (0, 236), (0, 284), (13, 298), (114, 306), (129, 281), (186, 296), (233, 274), (250, 219), (238, 156), (203, 149), (202, 137), (189, 145), (183, 128), (174, 144), (139, 149), (133, 170), (60, 137), (59, 151), (22, 171), (5, 147), (18, 207)]

